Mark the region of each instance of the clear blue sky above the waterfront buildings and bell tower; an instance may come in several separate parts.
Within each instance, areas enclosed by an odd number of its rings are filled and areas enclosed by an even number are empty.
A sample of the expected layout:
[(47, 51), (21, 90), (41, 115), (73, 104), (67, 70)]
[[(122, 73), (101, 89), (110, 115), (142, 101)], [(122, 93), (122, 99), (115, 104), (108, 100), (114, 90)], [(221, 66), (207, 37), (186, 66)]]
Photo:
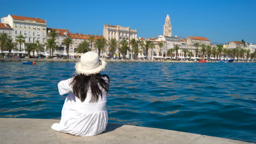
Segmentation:
[(163, 33), (167, 14), (172, 34), (211, 41), (256, 43), (256, 0), (212, 1), (2, 1), (0, 16), (39, 17), (48, 27), (72, 33), (103, 34), (104, 23), (130, 26), (138, 37)]

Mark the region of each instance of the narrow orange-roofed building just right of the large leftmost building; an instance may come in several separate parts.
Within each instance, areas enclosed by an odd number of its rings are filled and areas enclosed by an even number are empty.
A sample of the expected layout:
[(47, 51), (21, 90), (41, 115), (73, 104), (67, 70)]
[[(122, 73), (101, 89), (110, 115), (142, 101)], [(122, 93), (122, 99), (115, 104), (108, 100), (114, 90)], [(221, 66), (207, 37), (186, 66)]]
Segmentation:
[[(55, 43), (58, 46), (58, 48), (55, 49), (54, 53), (56, 55), (67, 55), (66, 46), (63, 45), (62, 42), (65, 38), (69, 37), (68, 29), (47, 28), (47, 34), (50, 33), (52, 30), (55, 30), (58, 34), (58, 37), (55, 40)], [(69, 47), (69, 49), (71, 49), (71, 47)]]

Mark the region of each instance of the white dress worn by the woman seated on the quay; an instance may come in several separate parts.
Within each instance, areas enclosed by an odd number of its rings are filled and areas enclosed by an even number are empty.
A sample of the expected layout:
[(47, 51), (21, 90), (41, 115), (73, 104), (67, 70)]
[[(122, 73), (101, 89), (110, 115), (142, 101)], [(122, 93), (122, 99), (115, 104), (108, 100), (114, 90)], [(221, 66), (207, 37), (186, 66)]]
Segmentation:
[[(104, 77), (105, 79), (106, 77)], [(72, 92), (73, 78), (58, 83), (60, 95), (68, 93), (61, 111), (60, 123), (54, 123), (51, 128), (62, 133), (76, 136), (93, 136), (102, 133), (108, 124), (106, 109), (107, 92), (95, 103), (90, 103), (91, 89), (88, 89), (86, 99), (82, 102)], [(108, 79), (105, 79), (108, 83)]]

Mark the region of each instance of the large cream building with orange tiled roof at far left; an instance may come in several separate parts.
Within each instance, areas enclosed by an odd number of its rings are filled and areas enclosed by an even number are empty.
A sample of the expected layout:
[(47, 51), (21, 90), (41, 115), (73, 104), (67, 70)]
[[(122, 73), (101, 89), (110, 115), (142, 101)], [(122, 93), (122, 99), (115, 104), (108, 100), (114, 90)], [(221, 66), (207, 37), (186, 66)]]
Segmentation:
[(23, 35), (25, 38), (25, 44), (22, 45), (22, 49), (25, 49), (25, 45), (29, 43), (36, 43), (39, 40), (43, 44), (46, 40), (46, 20), (24, 17), (16, 15), (8, 15), (1, 18), (2, 23), (7, 23), (13, 28), (14, 33), (11, 37), (15, 40), (18, 35)]

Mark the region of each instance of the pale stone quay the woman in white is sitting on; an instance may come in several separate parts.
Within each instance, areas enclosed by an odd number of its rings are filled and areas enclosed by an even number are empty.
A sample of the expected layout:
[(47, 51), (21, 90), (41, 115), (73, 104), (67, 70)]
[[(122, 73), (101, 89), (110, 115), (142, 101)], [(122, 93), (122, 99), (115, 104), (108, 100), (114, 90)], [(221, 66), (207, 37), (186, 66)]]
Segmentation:
[(109, 123), (100, 135), (81, 137), (59, 133), (50, 127), (58, 119), (0, 118), (1, 144), (36, 143), (180, 143), (180, 144), (231, 144), (248, 143), (219, 137), (184, 133), (181, 131), (137, 127)]

